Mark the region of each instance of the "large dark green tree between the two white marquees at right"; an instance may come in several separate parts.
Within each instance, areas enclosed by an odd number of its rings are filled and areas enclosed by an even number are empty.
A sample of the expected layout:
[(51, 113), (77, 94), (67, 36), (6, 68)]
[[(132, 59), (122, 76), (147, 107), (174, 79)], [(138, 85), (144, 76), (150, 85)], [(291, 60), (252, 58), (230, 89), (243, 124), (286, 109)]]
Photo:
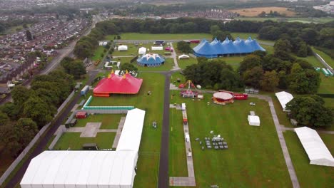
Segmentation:
[(324, 127), (333, 122), (333, 110), (325, 108), (317, 97), (297, 96), (286, 105), (286, 109), (300, 125)]

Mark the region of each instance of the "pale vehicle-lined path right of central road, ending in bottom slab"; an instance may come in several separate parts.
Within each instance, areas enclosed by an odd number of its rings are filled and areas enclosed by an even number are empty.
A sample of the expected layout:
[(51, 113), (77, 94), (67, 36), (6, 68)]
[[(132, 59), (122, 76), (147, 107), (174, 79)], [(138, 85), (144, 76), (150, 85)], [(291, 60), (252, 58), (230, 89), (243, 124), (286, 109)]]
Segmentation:
[[(184, 110), (182, 113), (187, 113)], [(183, 123), (183, 133), (185, 135), (184, 142), (186, 144), (186, 159), (187, 159), (187, 169), (188, 169), (188, 177), (169, 177), (169, 185), (170, 186), (188, 186), (188, 187), (196, 187), (195, 181), (195, 172), (193, 170), (193, 155), (188, 156), (188, 153), (193, 153), (191, 149), (191, 140), (189, 138), (189, 142), (186, 142), (186, 134), (189, 134), (189, 125), (188, 123)]]

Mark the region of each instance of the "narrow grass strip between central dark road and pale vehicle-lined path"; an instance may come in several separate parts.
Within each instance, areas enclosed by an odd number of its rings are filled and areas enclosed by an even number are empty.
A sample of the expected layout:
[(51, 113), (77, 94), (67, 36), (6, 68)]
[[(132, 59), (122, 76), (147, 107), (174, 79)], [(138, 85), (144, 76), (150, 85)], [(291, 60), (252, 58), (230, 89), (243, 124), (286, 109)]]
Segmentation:
[(188, 177), (186, 146), (184, 144), (183, 122), (181, 110), (169, 110), (169, 176)]

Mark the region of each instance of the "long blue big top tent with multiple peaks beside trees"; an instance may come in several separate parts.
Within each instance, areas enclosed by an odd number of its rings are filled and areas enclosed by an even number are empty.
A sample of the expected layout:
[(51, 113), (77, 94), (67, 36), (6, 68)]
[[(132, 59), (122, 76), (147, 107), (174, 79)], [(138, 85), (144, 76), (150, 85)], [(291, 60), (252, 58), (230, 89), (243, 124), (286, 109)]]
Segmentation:
[(254, 51), (265, 51), (255, 39), (249, 37), (246, 41), (236, 38), (235, 41), (226, 38), (223, 42), (215, 38), (211, 43), (203, 39), (201, 43), (193, 48), (197, 57), (217, 58), (218, 56), (233, 56), (253, 53)]

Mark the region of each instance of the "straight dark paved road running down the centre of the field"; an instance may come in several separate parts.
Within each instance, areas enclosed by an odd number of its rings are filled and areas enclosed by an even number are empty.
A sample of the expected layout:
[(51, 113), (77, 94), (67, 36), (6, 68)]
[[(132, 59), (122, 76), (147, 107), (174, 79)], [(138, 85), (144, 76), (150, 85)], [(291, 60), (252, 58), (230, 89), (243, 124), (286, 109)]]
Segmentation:
[(171, 83), (171, 72), (163, 73), (166, 76), (165, 80), (165, 94), (163, 96), (163, 127), (161, 132), (161, 149), (160, 149), (160, 164), (158, 187), (169, 187), (168, 175), (168, 150), (169, 150), (169, 83)]

